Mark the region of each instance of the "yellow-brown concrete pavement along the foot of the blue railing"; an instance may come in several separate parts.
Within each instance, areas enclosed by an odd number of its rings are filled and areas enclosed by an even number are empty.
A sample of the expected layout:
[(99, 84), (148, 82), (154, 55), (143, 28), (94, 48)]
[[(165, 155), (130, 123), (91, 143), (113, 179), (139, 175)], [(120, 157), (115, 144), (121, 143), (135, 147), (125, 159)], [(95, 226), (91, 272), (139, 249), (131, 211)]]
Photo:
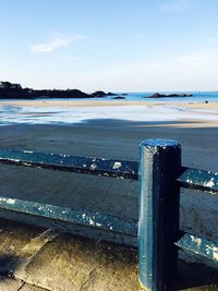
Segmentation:
[[(0, 291), (141, 290), (135, 248), (3, 219), (0, 274)], [(173, 290), (217, 291), (218, 270), (180, 262)]]

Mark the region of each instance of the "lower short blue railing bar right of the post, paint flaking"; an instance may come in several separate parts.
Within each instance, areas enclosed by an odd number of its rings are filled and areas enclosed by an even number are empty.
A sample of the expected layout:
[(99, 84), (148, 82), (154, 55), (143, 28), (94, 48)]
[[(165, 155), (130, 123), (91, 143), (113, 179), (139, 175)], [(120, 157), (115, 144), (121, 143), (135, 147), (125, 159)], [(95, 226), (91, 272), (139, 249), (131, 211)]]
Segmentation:
[(218, 242), (184, 233), (174, 244), (184, 252), (218, 263)]

